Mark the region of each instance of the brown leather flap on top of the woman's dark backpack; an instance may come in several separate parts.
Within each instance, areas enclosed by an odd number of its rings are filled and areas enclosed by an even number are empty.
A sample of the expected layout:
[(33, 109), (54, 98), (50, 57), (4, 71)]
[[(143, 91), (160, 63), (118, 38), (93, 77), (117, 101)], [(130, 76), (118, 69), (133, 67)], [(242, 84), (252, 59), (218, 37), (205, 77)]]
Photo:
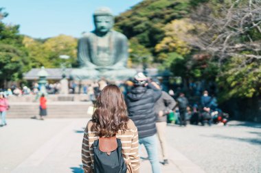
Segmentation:
[(99, 138), (99, 149), (102, 152), (107, 152), (107, 155), (111, 155), (111, 152), (116, 150), (117, 146), (116, 136)]

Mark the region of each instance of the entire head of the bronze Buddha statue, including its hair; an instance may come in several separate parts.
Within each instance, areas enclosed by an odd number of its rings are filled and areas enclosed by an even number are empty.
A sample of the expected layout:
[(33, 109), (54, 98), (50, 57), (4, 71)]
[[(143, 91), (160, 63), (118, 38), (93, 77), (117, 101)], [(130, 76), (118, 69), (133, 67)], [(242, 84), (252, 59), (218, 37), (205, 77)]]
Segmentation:
[(106, 34), (111, 30), (114, 24), (114, 18), (109, 8), (98, 8), (93, 14), (95, 31)]

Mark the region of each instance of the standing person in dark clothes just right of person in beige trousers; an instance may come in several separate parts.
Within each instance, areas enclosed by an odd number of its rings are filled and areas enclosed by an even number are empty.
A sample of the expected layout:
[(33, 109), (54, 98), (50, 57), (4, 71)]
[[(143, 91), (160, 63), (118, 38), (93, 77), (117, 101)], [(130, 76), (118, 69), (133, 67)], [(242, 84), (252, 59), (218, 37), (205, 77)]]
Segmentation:
[(179, 106), (179, 116), (181, 119), (180, 125), (186, 126), (186, 114), (187, 114), (187, 108), (188, 108), (188, 99), (185, 97), (185, 94), (181, 92), (179, 94), (179, 97), (177, 98), (178, 106)]

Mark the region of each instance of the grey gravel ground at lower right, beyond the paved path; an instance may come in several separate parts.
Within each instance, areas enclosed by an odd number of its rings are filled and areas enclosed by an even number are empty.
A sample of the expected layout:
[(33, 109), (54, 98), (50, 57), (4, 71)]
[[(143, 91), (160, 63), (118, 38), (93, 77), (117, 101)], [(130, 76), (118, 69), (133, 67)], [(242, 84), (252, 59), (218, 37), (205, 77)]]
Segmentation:
[(260, 123), (168, 126), (166, 133), (169, 144), (207, 173), (261, 173)]

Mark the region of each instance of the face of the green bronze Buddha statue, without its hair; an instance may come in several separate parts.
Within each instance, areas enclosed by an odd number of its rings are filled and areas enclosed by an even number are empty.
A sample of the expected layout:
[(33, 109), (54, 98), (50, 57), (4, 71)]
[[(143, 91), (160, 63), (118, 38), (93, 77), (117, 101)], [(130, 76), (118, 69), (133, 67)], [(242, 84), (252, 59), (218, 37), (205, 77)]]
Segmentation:
[(95, 16), (95, 29), (101, 33), (107, 33), (113, 27), (113, 16)]

